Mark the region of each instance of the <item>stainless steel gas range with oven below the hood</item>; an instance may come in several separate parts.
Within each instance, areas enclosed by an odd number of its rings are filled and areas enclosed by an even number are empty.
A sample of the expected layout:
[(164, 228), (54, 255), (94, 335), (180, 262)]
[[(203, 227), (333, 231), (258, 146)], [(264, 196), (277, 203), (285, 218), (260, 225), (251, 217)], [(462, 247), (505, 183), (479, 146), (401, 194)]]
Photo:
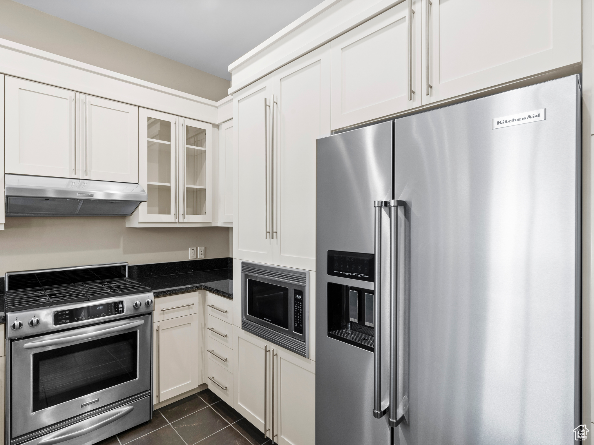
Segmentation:
[(90, 445), (152, 417), (153, 293), (128, 263), (7, 272), (6, 443)]

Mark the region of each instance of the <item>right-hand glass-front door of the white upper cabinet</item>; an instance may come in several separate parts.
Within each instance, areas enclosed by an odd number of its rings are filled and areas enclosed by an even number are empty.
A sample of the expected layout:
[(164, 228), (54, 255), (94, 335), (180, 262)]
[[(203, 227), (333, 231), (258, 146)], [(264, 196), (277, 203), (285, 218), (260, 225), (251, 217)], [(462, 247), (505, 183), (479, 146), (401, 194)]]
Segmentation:
[(180, 222), (212, 221), (212, 125), (182, 119), (179, 144)]

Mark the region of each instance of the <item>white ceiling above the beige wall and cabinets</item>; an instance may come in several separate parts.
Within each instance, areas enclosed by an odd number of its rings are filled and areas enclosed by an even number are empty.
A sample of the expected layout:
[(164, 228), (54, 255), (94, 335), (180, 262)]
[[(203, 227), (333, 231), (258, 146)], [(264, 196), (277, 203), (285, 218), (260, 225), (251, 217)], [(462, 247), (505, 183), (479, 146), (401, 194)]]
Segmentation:
[(230, 63), (323, 0), (15, 1), (230, 80)]

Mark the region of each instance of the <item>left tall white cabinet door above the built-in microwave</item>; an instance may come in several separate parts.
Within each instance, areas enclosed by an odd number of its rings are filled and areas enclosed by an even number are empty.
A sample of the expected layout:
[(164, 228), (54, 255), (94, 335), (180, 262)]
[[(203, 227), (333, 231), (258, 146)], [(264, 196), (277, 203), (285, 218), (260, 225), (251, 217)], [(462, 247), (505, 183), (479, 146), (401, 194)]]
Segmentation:
[[(272, 74), (233, 96), (233, 257), (270, 263), (270, 98)], [(266, 106), (265, 104), (268, 104)]]

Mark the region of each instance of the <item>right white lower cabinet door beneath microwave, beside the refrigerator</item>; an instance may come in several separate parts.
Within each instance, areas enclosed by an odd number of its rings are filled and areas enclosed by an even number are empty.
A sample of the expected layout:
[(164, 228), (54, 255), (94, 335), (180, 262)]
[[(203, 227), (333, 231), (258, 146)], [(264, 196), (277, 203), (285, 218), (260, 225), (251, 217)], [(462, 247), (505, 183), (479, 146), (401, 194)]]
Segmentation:
[(281, 445), (315, 443), (315, 362), (274, 345), (274, 434)]

